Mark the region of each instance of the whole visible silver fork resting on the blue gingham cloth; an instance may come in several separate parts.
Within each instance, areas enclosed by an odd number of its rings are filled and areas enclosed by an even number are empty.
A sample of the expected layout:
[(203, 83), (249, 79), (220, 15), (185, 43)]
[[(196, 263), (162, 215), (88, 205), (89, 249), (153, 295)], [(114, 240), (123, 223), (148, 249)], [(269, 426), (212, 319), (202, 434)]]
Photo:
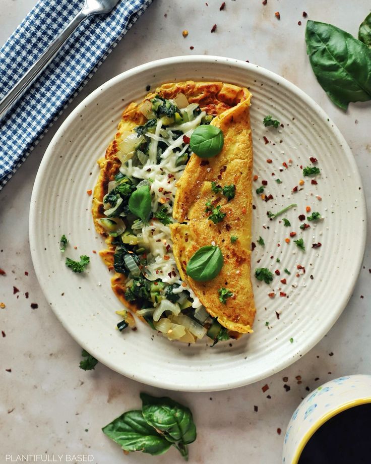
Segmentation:
[(4, 119), (8, 111), (49, 65), (54, 56), (58, 53), (59, 49), (63, 46), (79, 24), (88, 16), (109, 13), (118, 2), (119, 0), (85, 0), (82, 10), (65, 27), (60, 35), (51, 42), (48, 48), (25, 73), (20, 81), (0, 101), (0, 121)]

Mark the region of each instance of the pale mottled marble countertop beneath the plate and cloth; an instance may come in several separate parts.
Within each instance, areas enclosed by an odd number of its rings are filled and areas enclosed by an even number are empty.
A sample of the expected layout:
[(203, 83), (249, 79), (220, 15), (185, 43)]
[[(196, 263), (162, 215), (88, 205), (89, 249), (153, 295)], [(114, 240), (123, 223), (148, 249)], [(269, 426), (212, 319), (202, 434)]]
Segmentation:
[[(221, 3), (154, 0), (0, 192), (0, 268), (6, 271), (0, 276), (0, 302), (6, 305), (0, 309), (0, 462), (6, 462), (6, 454), (13, 459), (21, 454), (58, 459), (59, 454), (63, 455), (60, 462), (75, 462), (73, 455), (85, 454), (99, 464), (180, 462), (175, 449), (159, 457), (124, 456), (101, 432), (113, 418), (138, 407), (139, 392), (145, 390), (170, 394), (194, 412), (198, 439), (190, 447), (190, 462), (278, 464), (286, 425), (307, 390), (341, 375), (371, 371), (370, 235), (353, 295), (327, 336), (284, 371), (224, 392), (167, 392), (126, 379), (100, 364), (94, 371), (82, 371), (79, 345), (55, 318), (38, 285), (29, 250), (28, 213), (46, 147), (86, 95), (111, 77), (162, 57), (194, 53), (249, 60), (296, 84), (325, 109), (345, 136), (371, 204), (369, 103), (351, 104), (346, 113), (331, 103), (308, 63), (306, 19), (302, 18), (306, 11), (308, 19), (331, 22), (357, 35), (358, 25), (370, 11), (369, 3), (358, 0), (354, 8), (345, 0), (268, 0), (266, 6), (261, 0), (226, 0), (224, 11), (219, 11)], [(0, 44), (33, 4), (34, 0), (0, 0)], [(280, 20), (274, 16), (276, 11)], [(214, 24), (217, 29), (211, 34)], [(189, 31), (187, 38), (182, 37), (184, 29)], [(368, 207), (368, 219), (369, 215)], [(13, 286), (18, 293), (14, 294)], [(32, 303), (38, 307), (32, 309)], [(264, 393), (266, 383), (269, 390)]]

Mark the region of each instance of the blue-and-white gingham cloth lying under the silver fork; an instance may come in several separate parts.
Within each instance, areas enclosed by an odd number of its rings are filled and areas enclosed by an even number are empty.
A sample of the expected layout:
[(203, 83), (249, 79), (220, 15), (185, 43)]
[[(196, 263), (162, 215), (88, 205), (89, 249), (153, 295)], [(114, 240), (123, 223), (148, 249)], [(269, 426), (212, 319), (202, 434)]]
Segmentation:
[[(0, 190), (152, 0), (120, 0), (87, 18), (0, 122)], [(40, 0), (0, 50), (0, 99), (81, 10), (84, 0)]]

